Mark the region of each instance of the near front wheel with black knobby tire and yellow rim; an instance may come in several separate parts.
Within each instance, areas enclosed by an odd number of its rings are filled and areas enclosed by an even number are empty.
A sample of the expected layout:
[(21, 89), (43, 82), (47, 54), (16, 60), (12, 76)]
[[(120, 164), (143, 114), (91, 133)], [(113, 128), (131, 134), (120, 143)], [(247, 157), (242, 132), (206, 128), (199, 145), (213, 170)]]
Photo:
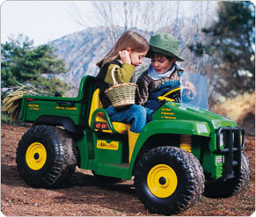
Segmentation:
[[(170, 177), (169, 171), (172, 174)], [(166, 176), (161, 177), (162, 174)], [(159, 191), (155, 191), (152, 185), (157, 185)], [(138, 198), (150, 213), (172, 215), (183, 212), (200, 199), (204, 190), (201, 164), (184, 149), (153, 148), (136, 164), (135, 189)]]

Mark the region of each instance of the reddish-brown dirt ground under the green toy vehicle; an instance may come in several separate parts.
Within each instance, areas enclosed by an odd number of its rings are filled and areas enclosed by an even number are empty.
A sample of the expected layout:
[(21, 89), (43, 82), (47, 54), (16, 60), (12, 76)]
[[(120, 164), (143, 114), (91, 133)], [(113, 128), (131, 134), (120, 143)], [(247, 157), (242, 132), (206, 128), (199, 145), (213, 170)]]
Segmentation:
[[(26, 127), (1, 127), (1, 211), (6, 216), (139, 216), (149, 213), (135, 197), (132, 181), (100, 185), (88, 170), (76, 170), (63, 189), (34, 189), (18, 176), (15, 156)], [(247, 136), (245, 153), (252, 179), (244, 192), (228, 199), (202, 197), (179, 216), (248, 216), (255, 210), (255, 138)]]

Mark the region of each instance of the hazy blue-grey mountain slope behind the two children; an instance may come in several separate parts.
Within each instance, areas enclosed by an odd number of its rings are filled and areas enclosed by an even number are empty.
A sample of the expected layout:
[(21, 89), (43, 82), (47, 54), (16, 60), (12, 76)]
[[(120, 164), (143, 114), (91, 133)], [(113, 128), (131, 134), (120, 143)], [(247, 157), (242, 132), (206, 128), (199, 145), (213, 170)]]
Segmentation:
[[(184, 24), (186, 22), (186, 25)], [(171, 26), (173, 26), (171, 24)], [(187, 71), (197, 71), (196, 67), (201, 64), (201, 62), (194, 64), (193, 54), (187, 48), (187, 45), (198, 40), (196, 31), (194, 30), (194, 20), (182, 19), (177, 22), (176, 25), (176, 35), (170, 28), (172, 35), (177, 37), (180, 41), (179, 51), (181, 56), (190, 61), (185, 61), (184, 63), (179, 63), (182, 69)], [(115, 26), (117, 32), (123, 33), (124, 28), (120, 26)], [(150, 39), (152, 33), (144, 33), (142, 30), (134, 29), (135, 32), (142, 34), (147, 40)], [(67, 95), (72, 97), (77, 95), (77, 90), (79, 88), (79, 83), (83, 76), (91, 75), (96, 76), (99, 72), (99, 68), (96, 66), (96, 63), (103, 58), (107, 52), (113, 47), (113, 37), (107, 27), (89, 27), (83, 31), (77, 33), (71, 33), (65, 35), (60, 39), (53, 40), (50, 44), (55, 47), (56, 54), (58, 58), (62, 58), (66, 63), (66, 68), (68, 72), (62, 75), (58, 75), (62, 81), (69, 83), (74, 90), (68, 92)], [(161, 33), (162, 30), (159, 30)], [(163, 32), (168, 33), (163, 30)], [(117, 33), (118, 34), (118, 33)], [(147, 69), (149, 66), (150, 60), (144, 58), (143, 64), (135, 70), (133, 76), (133, 82), (136, 81), (138, 76)]]

